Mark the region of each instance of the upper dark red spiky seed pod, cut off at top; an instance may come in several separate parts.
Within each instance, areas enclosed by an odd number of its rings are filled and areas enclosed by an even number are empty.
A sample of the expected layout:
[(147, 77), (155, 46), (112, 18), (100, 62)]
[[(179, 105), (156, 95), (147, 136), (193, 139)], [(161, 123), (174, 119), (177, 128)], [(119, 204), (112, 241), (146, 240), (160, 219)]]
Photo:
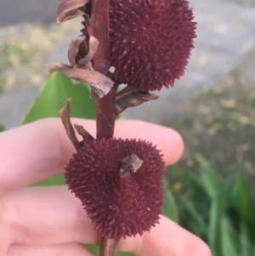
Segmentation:
[(173, 86), (194, 47), (193, 18), (186, 0), (110, 0), (113, 80), (136, 90)]

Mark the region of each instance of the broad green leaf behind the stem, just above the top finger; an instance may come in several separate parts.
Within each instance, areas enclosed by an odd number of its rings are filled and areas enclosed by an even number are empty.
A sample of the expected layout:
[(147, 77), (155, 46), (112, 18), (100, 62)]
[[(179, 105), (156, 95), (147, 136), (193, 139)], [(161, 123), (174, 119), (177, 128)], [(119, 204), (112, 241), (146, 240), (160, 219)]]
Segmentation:
[(59, 72), (51, 73), (42, 86), (41, 92), (27, 113), (24, 122), (34, 122), (47, 117), (59, 117), (59, 110), (69, 98), (71, 102), (71, 117), (95, 119), (95, 101), (90, 99), (89, 89), (80, 82), (72, 82)]

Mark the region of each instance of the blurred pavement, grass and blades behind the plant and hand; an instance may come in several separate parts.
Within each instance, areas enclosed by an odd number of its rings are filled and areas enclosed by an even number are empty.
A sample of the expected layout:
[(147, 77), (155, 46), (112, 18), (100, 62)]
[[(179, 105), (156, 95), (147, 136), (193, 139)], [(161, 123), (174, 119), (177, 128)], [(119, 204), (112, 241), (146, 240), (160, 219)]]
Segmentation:
[[(0, 129), (22, 122), (67, 63), (80, 20), (55, 24), (58, 0), (0, 0)], [(184, 77), (125, 118), (175, 128), (185, 152), (167, 172), (169, 217), (213, 255), (255, 255), (255, 0), (190, 0), (197, 38)]]

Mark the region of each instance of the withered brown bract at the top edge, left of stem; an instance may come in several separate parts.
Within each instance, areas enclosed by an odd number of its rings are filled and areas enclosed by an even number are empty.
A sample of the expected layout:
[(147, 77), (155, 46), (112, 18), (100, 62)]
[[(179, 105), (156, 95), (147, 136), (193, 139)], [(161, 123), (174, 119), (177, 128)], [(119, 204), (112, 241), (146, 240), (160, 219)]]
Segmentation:
[(61, 23), (85, 14), (85, 4), (88, 0), (60, 0), (57, 22)]

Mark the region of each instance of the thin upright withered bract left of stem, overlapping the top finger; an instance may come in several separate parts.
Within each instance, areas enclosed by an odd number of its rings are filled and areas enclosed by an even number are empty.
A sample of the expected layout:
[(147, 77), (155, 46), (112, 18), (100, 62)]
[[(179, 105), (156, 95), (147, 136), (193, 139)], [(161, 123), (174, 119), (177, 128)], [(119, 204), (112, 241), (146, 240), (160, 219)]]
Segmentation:
[(67, 99), (66, 104), (59, 111), (59, 117), (61, 117), (61, 120), (62, 120), (63, 125), (65, 127), (66, 134), (68, 135), (68, 138), (71, 140), (72, 145), (74, 145), (74, 147), (78, 151), (79, 148), (81, 147), (81, 144), (80, 144), (79, 140), (77, 139), (76, 132), (75, 132), (75, 130), (72, 127), (72, 124), (71, 124), (70, 103), (71, 103), (71, 99)]

